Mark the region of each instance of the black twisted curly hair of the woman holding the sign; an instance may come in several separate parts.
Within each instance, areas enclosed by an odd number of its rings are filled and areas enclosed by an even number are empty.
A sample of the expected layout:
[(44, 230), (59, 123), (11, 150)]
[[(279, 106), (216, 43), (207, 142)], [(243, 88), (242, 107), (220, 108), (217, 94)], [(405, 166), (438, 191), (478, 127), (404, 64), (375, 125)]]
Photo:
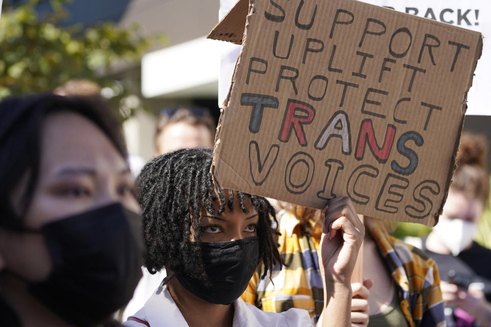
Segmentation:
[(137, 178), (137, 197), (142, 207), (147, 246), (145, 267), (152, 274), (164, 266), (170, 269), (173, 274), (164, 280), (164, 284), (180, 272), (206, 281), (200, 249), (189, 243), (191, 226), (195, 231), (194, 240), (199, 243), (202, 208), (214, 215), (213, 204), (219, 201), (218, 214), (226, 207), (233, 211), (235, 194), (242, 212), (248, 211), (245, 197), (249, 197), (259, 214), (257, 236), (261, 277), (264, 278), (276, 264), (284, 264), (274, 239), (279, 233), (273, 206), (263, 197), (232, 190), (227, 190), (229, 199), (226, 201), (224, 191), (213, 182), (212, 159), (211, 149), (177, 150), (150, 160)]

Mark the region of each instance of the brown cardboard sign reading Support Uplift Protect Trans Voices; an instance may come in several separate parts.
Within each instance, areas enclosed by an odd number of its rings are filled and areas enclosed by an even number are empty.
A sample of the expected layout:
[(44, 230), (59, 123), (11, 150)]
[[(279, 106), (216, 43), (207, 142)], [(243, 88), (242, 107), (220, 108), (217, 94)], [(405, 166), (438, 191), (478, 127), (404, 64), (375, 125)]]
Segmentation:
[(209, 37), (242, 44), (216, 136), (222, 187), (436, 224), (480, 33), (353, 0), (240, 0)]

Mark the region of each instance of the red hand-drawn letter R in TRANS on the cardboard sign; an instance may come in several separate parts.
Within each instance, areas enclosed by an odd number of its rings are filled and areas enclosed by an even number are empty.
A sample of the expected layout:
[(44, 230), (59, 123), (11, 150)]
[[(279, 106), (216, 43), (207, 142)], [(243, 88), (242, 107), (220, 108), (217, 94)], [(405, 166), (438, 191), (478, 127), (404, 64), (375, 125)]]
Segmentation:
[(288, 142), (288, 139), (292, 134), (292, 129), (295, 129), (298, 143), (302, 147), (307, 146), (303, 125), (310, 124), (314, 120), (315, 115), (316, 110), (308, 103), (288, 99), (278, 139), (281, 142)]

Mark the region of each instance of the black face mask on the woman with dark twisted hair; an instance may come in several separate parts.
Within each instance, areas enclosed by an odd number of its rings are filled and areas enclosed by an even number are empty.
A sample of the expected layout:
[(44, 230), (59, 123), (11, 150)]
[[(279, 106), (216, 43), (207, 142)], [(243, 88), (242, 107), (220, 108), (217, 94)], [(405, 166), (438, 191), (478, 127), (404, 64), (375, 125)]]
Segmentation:
[[(191, 246), (199, 246), (195, 242), (190, 243)], [(189, 292), (207, 302), (229, 305), (245, 291), (257, 268), (259, 238), (199, 244), (207, 282), (185, 272), (176, 274), (177, 280)]]

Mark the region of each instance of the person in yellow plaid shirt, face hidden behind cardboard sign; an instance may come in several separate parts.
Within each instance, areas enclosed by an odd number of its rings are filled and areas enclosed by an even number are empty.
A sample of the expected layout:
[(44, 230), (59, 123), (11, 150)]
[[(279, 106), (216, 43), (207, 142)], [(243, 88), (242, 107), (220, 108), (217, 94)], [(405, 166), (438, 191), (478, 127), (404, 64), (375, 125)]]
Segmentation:
[[(277, 216), (281, 233), (279, 251), (287, 266), (283, 271), (273, 268), (267, 276), (270, 278), (260, 279), (255, 273), (242, 298), (265, 311), (306, 309), (316, 323), (323, 312), (317, 256), (323, 212), (284, 202), (280, 205), (283, 210)], [(353, 325), (442, 324), (443, 303), (435, 262), (418, 249), (391, 237), (388, 223), (369, 217), (365, 217), (364, 223), (366, 280), (363, 285), (352, 284)]]

